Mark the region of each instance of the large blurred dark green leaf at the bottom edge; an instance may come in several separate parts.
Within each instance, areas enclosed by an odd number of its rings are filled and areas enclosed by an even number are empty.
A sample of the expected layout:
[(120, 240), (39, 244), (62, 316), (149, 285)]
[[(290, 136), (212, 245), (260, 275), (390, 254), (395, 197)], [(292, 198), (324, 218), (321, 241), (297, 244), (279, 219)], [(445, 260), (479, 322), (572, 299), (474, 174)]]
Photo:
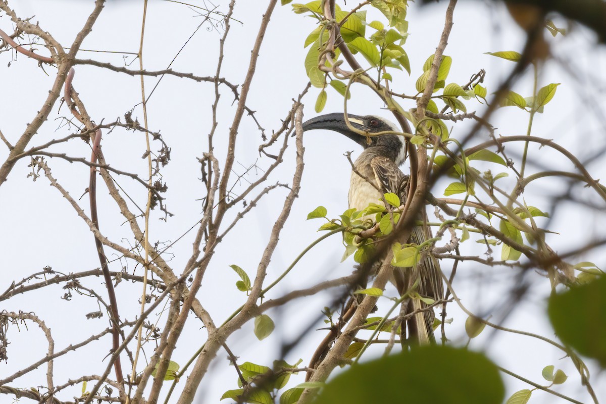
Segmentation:
[(504, 396), (499, 371), (483, 354), (419, 346), (351, 366), (327, 383), (316, 403), (501, 404)]

